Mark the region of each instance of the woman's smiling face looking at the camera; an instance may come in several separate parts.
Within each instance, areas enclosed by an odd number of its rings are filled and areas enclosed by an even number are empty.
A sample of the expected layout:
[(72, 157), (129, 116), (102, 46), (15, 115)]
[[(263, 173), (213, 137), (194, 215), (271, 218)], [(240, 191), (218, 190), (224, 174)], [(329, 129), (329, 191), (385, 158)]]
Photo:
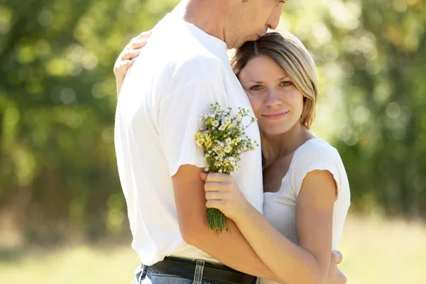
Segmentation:
[(265, 55), (251, 59), (241, 70), (239, 80), (261, 132), (281, 134), (300, 124), (302, 93), (274, 60)]

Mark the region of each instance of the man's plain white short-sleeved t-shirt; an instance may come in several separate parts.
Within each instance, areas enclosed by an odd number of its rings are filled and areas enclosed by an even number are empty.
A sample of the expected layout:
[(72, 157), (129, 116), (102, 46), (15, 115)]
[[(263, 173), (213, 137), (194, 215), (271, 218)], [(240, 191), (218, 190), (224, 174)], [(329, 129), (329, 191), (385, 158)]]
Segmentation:
[[(129, 70), (116, 108), (116, 158), (132, 247), (146, 265), (171, 255), (214, 261), (183, 241), (171, 179), (180, 165), (205, 166), (195, 133), (200, 114), (210, 112), (214, 102), (253, 114), (229, 65), (226, 44), (168, 14)], [(246, 132), (260, 141), (257, 124)], [(239, 165), (234, 178), (261, 212), (261, 149), (245, 153)]]

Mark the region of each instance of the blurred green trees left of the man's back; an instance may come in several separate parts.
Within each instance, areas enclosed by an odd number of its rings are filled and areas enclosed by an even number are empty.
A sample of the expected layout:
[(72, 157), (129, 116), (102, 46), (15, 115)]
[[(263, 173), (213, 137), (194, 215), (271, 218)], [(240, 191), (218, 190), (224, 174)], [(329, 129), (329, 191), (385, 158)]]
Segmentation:
[(121, 232), (112, 67), (124, 45), (174, 5), (0, 1), (3, 229), (45, 242)]

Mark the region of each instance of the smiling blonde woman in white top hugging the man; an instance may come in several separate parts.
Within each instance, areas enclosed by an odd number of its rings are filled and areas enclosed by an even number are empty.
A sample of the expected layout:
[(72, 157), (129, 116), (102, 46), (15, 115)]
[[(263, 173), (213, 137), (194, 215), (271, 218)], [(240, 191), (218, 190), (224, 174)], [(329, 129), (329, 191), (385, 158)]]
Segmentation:
[[(138, 54), (129, 47), (125, 52), (128, 60)], [(131, 61), (118, 65), (126, 71)], [(231, 67), (261, 131), (263, 216), (231, 175), (202, 173), (206, 206), (232, 219), (283, 283), (324, 283), (350, 192), (337, 150), (309, 131), (319, 92), (315, 62), (294, 35), (274, 32), (237, 49)]]

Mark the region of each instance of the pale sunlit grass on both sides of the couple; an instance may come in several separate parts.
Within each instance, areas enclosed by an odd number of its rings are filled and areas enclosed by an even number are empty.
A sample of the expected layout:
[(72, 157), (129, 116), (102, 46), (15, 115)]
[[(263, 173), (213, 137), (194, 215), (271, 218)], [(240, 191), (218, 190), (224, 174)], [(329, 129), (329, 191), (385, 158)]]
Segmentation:
[[(421, 222), (351, 216), (339, 249), (349, 284), (426, 281), (426, 226)], [(0, 283), (130, 284), (138, 264), (130, 244), (34, 249), (14, 261), (0, 261)]]

